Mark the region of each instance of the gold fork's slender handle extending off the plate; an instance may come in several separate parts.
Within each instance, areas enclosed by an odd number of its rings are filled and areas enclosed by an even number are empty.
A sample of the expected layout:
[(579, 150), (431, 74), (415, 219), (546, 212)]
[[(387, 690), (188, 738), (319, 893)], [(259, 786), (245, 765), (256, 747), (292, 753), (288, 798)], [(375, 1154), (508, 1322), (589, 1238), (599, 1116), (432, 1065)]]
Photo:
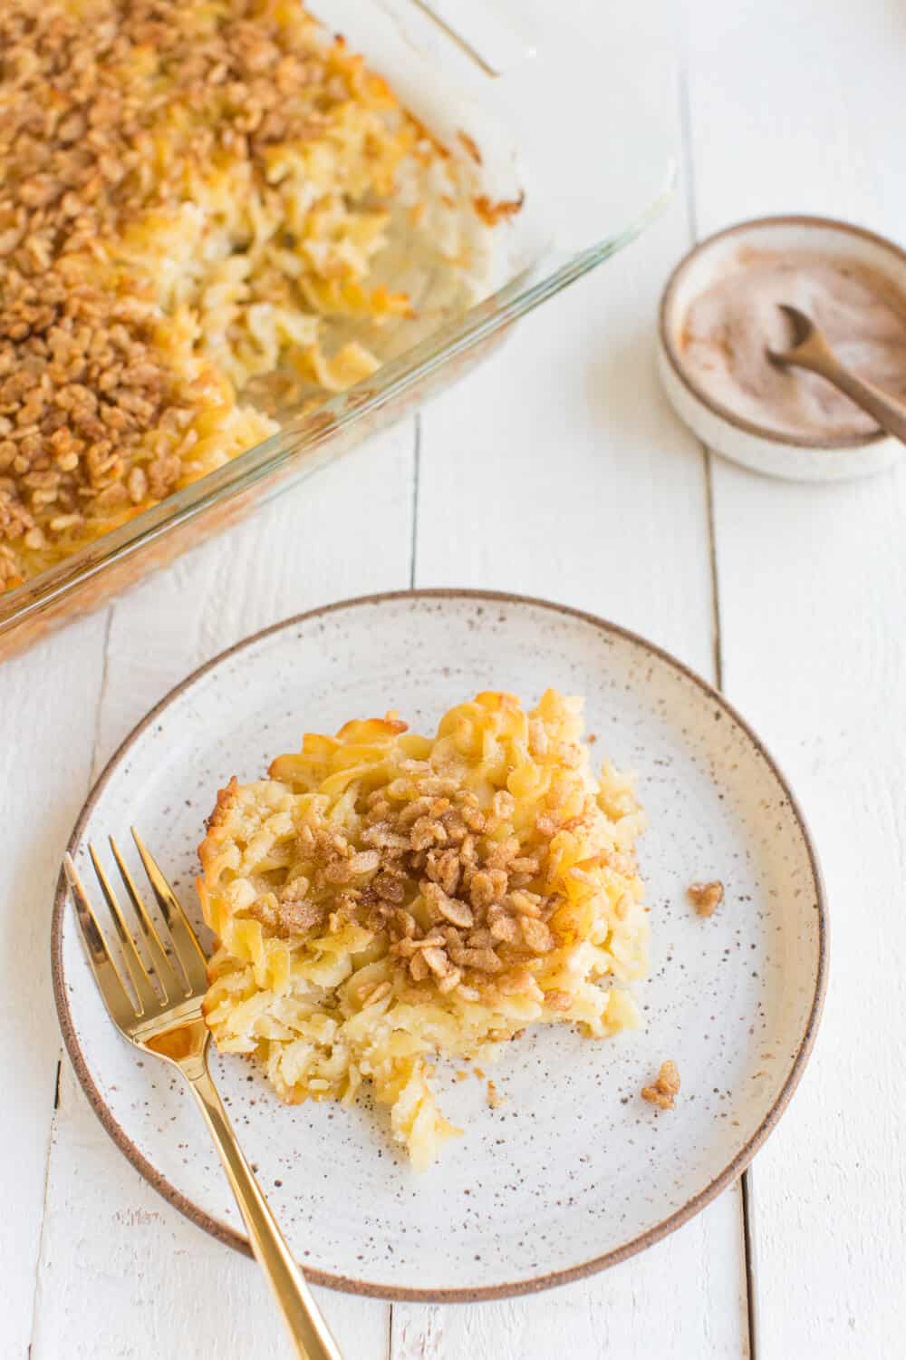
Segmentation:
[[(189, 1066), (189, 1070), (186, 1070)], [(300, 1360), (342, 1360), (306, 1278), (246, 1161), (206, 1064), (182, 1066), (236, 1197), (255, 1261), (268, 1277)]]

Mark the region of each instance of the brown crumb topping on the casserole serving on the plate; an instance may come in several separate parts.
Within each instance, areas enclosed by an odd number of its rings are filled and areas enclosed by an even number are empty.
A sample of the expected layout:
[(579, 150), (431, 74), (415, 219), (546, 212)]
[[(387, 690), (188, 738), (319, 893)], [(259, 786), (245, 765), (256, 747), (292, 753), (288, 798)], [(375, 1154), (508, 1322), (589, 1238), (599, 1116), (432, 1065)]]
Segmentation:
[[(543, 884), (550, 842), (566, 819), (550, 811), (538, 819), (526, 854), (512, 834), (511, 793), (499, 789), (482, 809), (474, 792), (425, 762), (402, 768), (402, 778), (367, 797), (359, 845), (330, 826), (304, 821), (299, 838), (310, 872), (255, 900), (249, 915), (283, 938), (336, 934), (349, 922), (386, 933), (390, 955), (412, 982), (441, 994), (456, 989), (478, 1000), (531, 987), (532, 962), (562, 942), (551, 923), (562, 898)], [(591, 797), (568, 819), (569, 830), (591, 830), (596, 816)], [(615, 851), (598, 860), (632, 868)], [(587, 862), (576, 876), (598, 866)], [(557, 1010), (572, 1004), (561, 989), (546, 996)]]

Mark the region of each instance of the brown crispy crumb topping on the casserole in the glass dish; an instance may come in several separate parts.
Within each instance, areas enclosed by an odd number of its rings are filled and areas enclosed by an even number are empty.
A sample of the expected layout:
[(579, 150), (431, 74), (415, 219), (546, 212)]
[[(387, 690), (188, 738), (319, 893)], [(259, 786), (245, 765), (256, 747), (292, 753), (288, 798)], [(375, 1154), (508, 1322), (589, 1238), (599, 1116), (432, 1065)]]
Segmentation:
[(211, 400), (156, 343), (153, 290), (120, 258), (129, 227), (179, 209), (224, 155), (264, 180), (269, 146), (348, 98), (297, 30), (253, 4), (217, 20), (181, 0), (0, 12), (0, 585), (11, 545), (41, 552), (173, 491)]

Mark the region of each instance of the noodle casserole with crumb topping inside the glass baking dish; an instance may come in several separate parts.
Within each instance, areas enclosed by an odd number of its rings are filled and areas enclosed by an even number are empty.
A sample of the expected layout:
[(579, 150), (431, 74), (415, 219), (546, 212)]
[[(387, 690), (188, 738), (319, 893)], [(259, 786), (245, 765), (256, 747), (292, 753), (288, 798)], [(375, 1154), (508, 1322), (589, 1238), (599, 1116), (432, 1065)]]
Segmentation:
[(285, 355), (374, 373), (319, 322), (412, 314), (371, 260), (446, 155), (302, 4), (4, 0), (0, 590), (273, 434)]

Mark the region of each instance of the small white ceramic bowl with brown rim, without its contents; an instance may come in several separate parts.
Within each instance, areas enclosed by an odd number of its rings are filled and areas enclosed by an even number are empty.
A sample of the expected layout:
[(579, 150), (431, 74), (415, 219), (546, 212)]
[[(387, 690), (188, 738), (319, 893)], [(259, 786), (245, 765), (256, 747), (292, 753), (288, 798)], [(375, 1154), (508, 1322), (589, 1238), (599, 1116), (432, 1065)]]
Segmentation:
[(719, 231), (674, 269), (660, 303), (657, 366), (670, 401), (702, 443), (755, 472), (791, 481), (848, 481), (882, 472), (903, 456), (903, 445), (882, 434), (842, 439), (776, 434), (712, 400), (689, 373), (681, 352), (691, 302), (736, 265), (740, 250), (846, 257), (890, 279), (906, 295), (906, 252), (884, 237), (831, 218), (759, 218)]

